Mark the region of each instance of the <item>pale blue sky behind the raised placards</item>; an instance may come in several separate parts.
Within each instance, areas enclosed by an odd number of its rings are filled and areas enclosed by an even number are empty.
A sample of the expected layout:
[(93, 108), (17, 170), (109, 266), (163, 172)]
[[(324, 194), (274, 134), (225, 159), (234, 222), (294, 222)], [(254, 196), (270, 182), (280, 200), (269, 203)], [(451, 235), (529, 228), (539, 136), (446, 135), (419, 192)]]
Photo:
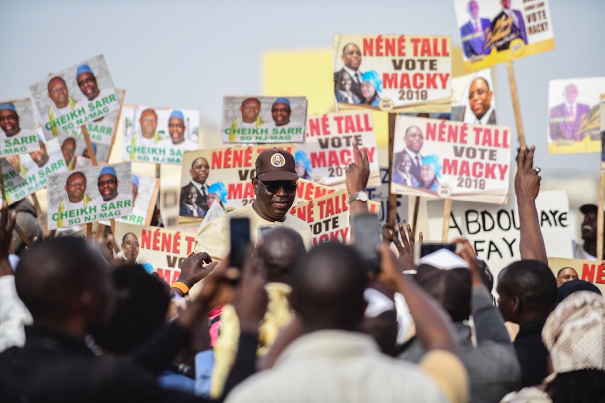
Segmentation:
[[(549, 176), (596, 177), (597, 154), (548, 156), (545, 131), (548, 80), (605, 75), (605, 2), (549, 7), (555, 50), (514, 63), (526, 137)], [(449, 34), (460, 45), (451, 1), (19, 1), (0, 13), (0, 99), (103, 53), (126, 103), (199, 109), (214, 126), (223, 94), (260, 92), (265, 51), (331, 48), (334, 33)], [(514, 127), (505, 65), (495, 87), (498, 121)]]

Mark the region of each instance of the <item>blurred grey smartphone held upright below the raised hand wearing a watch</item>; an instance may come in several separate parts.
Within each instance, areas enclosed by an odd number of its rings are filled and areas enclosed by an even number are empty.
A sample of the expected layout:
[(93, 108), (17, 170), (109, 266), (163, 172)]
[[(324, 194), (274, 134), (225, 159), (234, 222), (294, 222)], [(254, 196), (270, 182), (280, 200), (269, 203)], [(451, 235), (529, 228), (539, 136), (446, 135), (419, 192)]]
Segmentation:
[(376, 247), (381, 243), (378, 214), (356, 214), (351, 221), (353, 247), (361, 254), (368, 271), (380, 272), (380, 256)]

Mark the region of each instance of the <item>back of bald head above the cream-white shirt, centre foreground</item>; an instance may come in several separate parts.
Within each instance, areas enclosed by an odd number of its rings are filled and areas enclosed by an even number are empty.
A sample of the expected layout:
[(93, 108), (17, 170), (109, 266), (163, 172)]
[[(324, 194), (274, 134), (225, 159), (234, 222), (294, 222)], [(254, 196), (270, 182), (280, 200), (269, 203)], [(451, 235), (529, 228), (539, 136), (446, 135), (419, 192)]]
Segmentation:
[(368, 275), (352, 247), (327, 242), (313, 248), (292, 272), (292, 307), (305, 332), (358, 330), (367, 303)]

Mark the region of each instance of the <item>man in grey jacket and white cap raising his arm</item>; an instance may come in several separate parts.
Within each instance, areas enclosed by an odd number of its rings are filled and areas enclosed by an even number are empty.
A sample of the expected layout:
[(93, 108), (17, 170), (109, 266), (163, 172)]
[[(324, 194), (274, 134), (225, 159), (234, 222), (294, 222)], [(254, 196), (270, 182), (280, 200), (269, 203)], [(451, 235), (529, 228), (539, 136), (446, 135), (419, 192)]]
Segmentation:
[[(520, 385), (521, 369), (502, 315), (482, 281), (473, 248), (463, 239), (454, 242), (465, 243), (462, 254), (466, 261), (442, 250), (437, 252), (441, 255), (437, 259), (429, 259), (430, 264), (418, 267), (414, 279), (440, 302), (454, 322), (460, 359), (471, 385), (471, 402), (499, 402)], [(471, 327), (463, 323), (469, 314), (473, 315), (476, 346), (471, 340)], [(418, 362), (424, 355), (415, 337), (404, 347), (399, 358)]]

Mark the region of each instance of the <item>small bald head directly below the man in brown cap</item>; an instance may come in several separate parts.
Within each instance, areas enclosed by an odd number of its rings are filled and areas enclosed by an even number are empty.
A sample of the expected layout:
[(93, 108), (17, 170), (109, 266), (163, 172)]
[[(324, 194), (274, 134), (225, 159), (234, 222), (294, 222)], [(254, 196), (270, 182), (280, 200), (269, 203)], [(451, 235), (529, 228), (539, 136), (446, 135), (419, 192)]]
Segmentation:
[(258, 242), (258, 259), (263, 278), (267, 283), (290, 283), (293, 266), (307, 254), (304, 241), (292, 228), (273, 228)]

